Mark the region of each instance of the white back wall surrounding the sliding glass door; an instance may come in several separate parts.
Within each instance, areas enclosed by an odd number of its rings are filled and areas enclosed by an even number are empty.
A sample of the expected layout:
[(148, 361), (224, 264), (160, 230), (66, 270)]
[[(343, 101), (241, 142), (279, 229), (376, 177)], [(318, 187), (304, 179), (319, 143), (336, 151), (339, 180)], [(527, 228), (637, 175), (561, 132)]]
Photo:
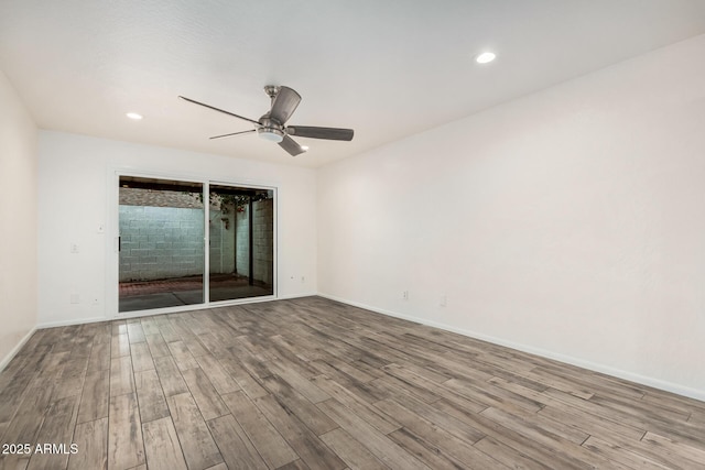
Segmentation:
[[(279, 296), (316, 292), (313, 170), (54, 131), (40, 131), (39, 162), (41, 326), (117, 313), (117, 254), (107, 249), (117, 236), (115, 168), (278, 187)], [(78, 253), (70, 253), (72, 243)], [(70, 303), (72, 294), (79, 304)]]

